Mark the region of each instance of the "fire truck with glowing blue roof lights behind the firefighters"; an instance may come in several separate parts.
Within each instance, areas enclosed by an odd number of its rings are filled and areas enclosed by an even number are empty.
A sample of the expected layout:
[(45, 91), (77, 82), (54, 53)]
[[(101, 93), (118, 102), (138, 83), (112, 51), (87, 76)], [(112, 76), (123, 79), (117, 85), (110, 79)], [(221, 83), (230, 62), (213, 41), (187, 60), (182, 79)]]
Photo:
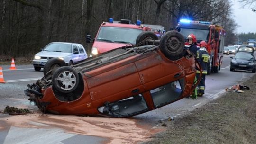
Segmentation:
[[(198, 44), (201, 41), (207, 43), (206, 49), (210, 55), (208, 74), (212, 72), (218, 73), (222, 64), (224, 39), (226, 35), (226, 31), (223, 27), (212, 25), (207, 21), (181, 19), (175, 29), (182, 33), (185, 39), (189, 34), (194, 34)], [(188, 42), (186, 42), (185, 45), (189, 46)]]

